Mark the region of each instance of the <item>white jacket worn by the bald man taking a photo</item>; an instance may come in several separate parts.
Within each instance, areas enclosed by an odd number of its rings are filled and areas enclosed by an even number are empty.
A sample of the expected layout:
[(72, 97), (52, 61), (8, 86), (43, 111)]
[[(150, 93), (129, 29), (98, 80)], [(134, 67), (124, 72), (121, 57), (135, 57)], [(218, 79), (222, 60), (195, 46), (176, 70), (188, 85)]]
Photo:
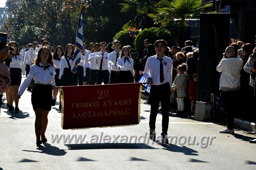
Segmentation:
[(221, 73), (220, 90), (222, 88), (239, 88), (240, 71), (243, 67), (243, 60), (237, 57), (222, 58), (216, 70)]

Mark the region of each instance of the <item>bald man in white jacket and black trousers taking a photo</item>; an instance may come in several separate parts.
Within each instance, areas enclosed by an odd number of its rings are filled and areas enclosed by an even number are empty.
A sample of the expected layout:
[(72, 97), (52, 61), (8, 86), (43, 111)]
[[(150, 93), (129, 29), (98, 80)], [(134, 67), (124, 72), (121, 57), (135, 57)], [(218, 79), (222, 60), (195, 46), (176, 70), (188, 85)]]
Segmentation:
[(235, 48), (229, 46), (225, 50), (225, 56), (221, 59), (216, 70), (220, 76), (220, 94), (226, 110), (226, 122), (228, 128), (220, 133), (234, 133), (234, 119), (239, 105), (240, 93), (240, 71), (243, 67), (243, 60), (235, 55)]

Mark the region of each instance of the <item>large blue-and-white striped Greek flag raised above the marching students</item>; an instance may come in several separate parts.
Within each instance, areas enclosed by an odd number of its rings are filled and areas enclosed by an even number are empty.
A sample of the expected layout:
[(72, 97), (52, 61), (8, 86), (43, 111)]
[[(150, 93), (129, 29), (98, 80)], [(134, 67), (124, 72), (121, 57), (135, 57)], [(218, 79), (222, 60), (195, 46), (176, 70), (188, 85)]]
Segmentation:
[(82, 17), (81, 9), (82, 8), (80, 7), (78, 30), (77, 30), (77, 34), (76, 34), (75, 51), (74, 51), (73, 63), (71, 65), (71, 71), (73, 73), (76, 73), (76, 67), (80, 64), (81, 52), (83, 52), (83, 17)]

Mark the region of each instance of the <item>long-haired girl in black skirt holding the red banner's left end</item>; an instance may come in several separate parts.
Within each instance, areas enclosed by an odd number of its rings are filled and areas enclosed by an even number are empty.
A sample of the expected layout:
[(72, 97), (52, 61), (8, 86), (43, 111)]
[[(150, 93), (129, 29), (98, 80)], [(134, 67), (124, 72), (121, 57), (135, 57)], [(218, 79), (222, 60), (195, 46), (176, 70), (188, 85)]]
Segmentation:
[(36, 115), (35, 133), (36, 145), (47, 142), (45, 131), (48, 124), (48, 113), (52, 107), (52, 90), (56, 88), (54, 81), (55, 67), (53, 66), (53, 58), (50, 49), (47, 46), (41, 47), (35, 60), (35, 64), (31, 66), (30, 72), (23, 81), (17, 98), (21, 98), (28, 84), (34, 77), (35, 86), (32, 90), (31, 103)]

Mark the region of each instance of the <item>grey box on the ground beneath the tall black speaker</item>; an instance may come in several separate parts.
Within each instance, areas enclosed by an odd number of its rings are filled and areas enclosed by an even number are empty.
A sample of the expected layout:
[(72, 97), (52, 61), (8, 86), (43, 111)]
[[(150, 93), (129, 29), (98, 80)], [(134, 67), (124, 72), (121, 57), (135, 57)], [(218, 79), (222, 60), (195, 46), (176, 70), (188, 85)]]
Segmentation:
[(212, 103), (197, 101), (195, 103), (195, 114), (194, 119), (196, 121), (210, 121), (212, 112)]

